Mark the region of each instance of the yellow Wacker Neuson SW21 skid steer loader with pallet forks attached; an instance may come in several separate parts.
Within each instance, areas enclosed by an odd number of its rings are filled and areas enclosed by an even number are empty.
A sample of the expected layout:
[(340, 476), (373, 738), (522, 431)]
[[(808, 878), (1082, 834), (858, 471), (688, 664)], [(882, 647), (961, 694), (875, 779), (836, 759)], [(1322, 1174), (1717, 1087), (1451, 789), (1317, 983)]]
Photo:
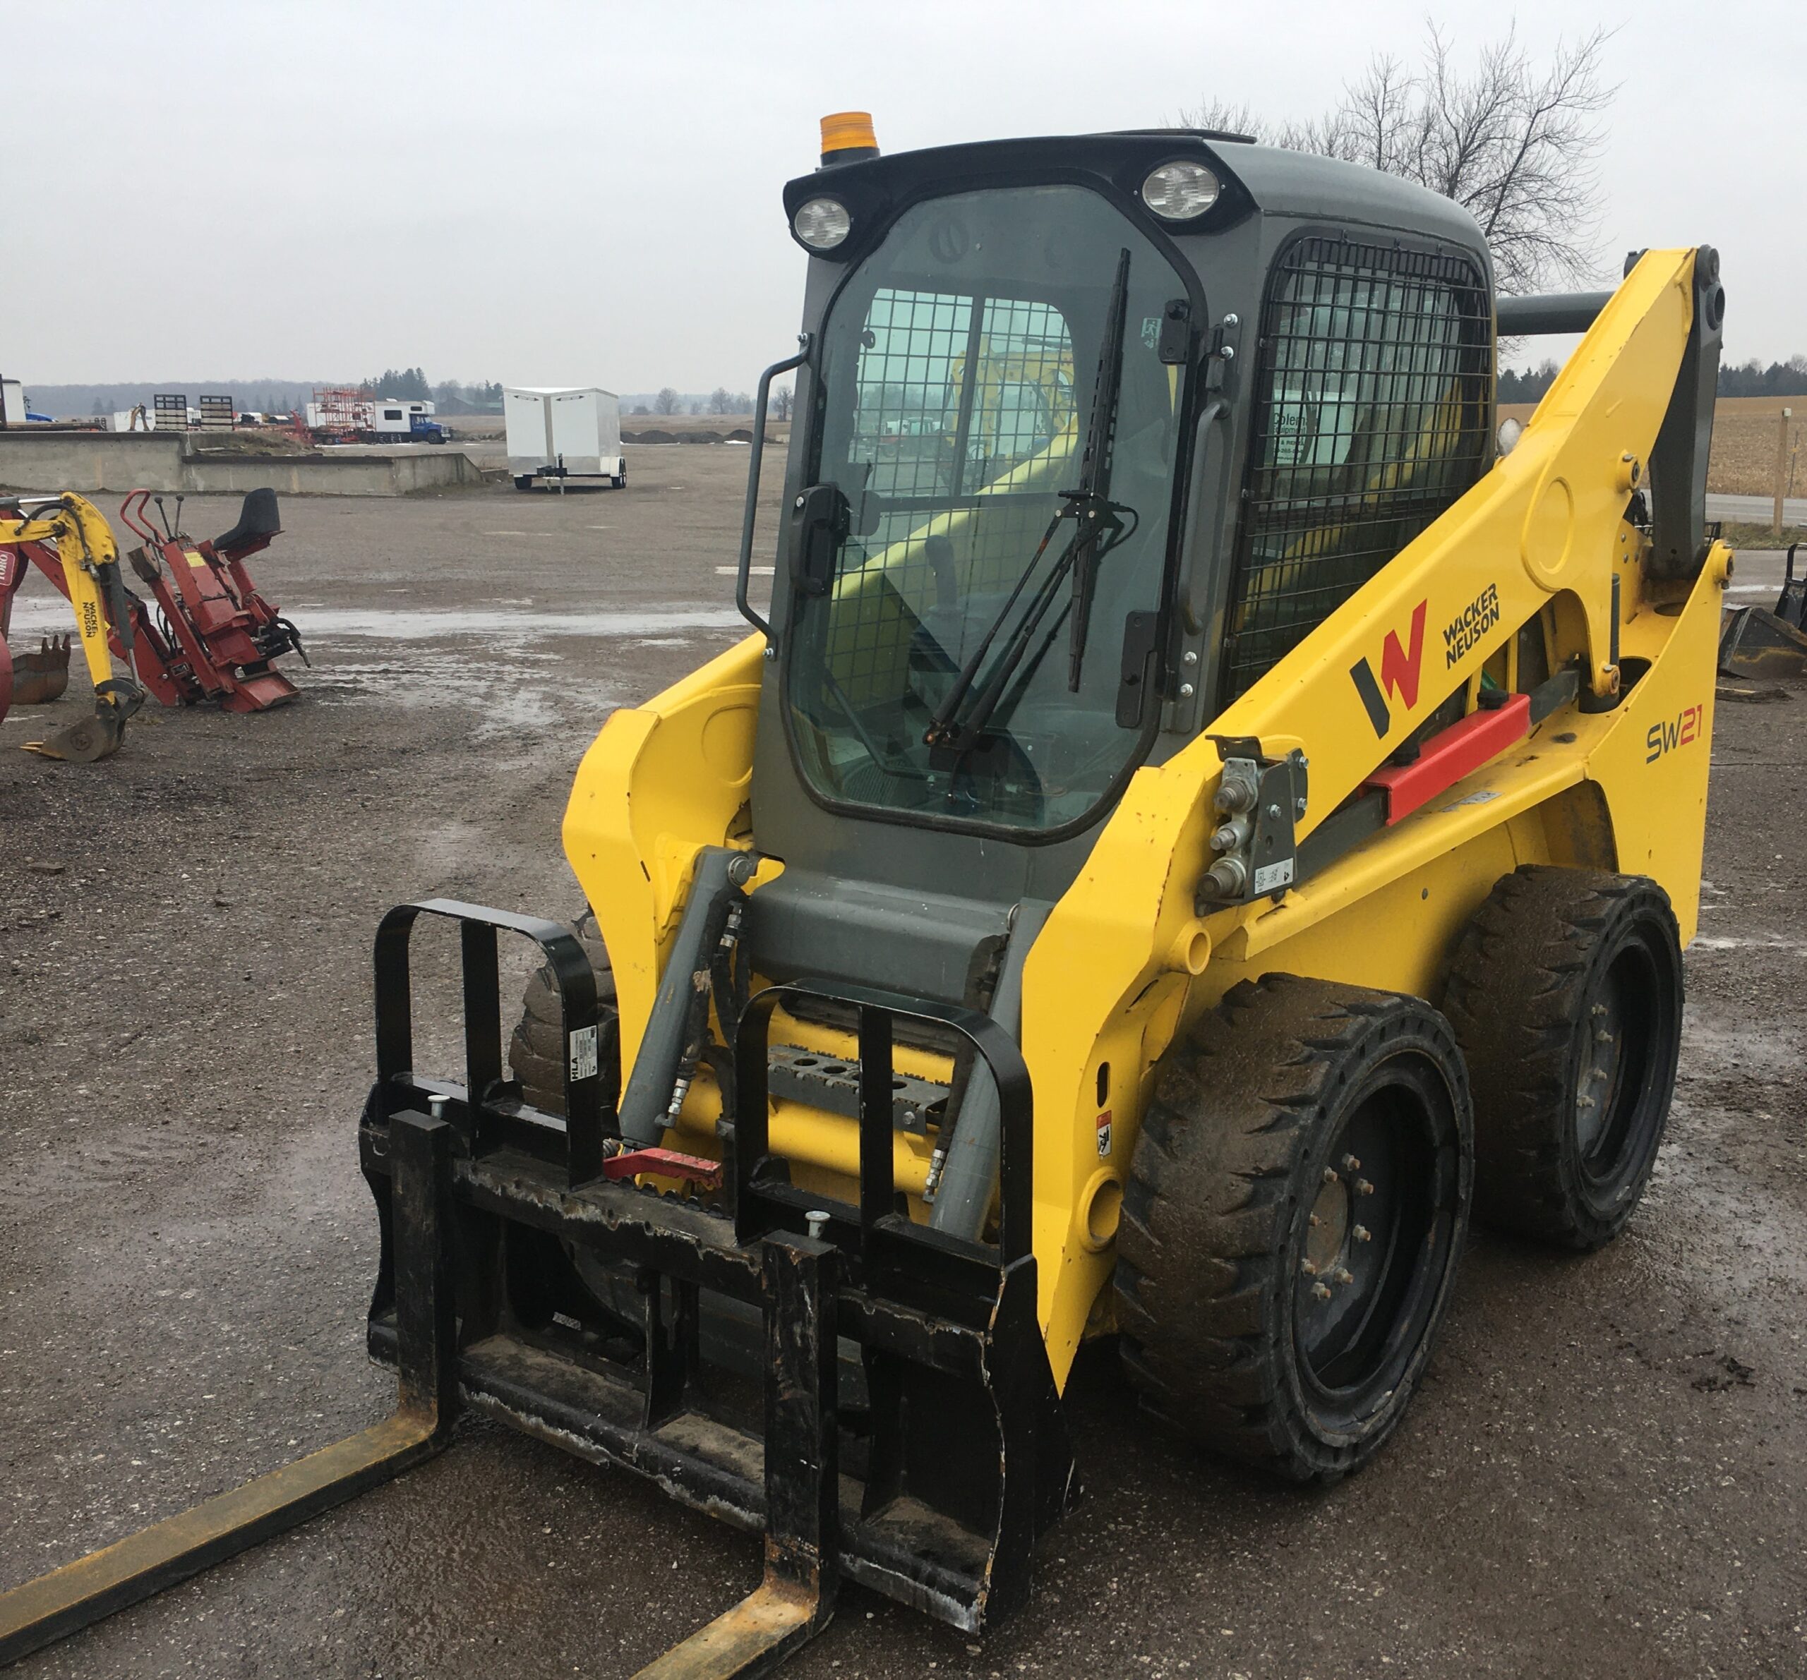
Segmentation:
[[(1460, 208), (1234, 135), (824, 143), (752, 634), (589, 748), (576, 927), (378, 934), (396, 1418), (0, 1599), (0, 1653), (461, 1407), (763, 1534), (647, 1675), (761, 1673), (847, 1581), (979, 1629), (1075, 1492), (1084, 1340), (1202, 1447), (1332, 1481), (1471, 1210), (1570, 1250), (1632, 1216), (1731, 569), (1715, 253), (1496, 300)], [(1502, 453), (1496, 336), (1538, 332), (1583, 336)], [(1072, 410), (1001, 425), (1030, 365)], [(423, 914), (463, 930), (461, 1080), (414, 1066)], [(511, 1069), (499, 930), (546, 950)]]

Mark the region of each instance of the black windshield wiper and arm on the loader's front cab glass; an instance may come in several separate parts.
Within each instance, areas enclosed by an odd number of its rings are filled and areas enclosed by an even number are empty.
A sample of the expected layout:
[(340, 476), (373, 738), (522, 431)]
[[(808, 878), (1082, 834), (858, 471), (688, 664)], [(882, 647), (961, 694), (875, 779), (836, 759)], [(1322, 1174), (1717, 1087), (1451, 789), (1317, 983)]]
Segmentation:
[[(1117, 397), (1122, 390), (1124, 316), (1128, 314), (1128, 309), (1129, 251), (1126, 247), (1117, 255), (1117, 280), (1111, 285), (1111, 302), (1104, 323), (1104, 343), (1099, 350), (1099, 370), (1097, 379), (1093, 381), (1091, 397), (1091, 421), (1086, 426), (1086, 448), (1079, 466), (1079, 488), (1059, 491), (1059, 497), (1066, 506), (1061, 508), (1052, 520), (1048, 520), (1048, 529), (1041, 533), (1041, 542), (1035, 544), (1035, 553), (1030, 555), (1028, 565), (1023, 567), (1021, 576), (1016, 580), (1016, 587), (1012, 587), (1005, 603), (987, 625), (985, 634), (979, 638), (979, 645), (972, 650), (972, 658), (961, 667), (960, 676), (943, 695), (934, 717), (929, 719), (929, 728), (923, 732), (923, 741), (929, 746), (969, 751), (978, 742), (979, 733), (985, 730), (985, 724), (990, 721), (992, 714), (997, 710), (997, 703), (1010, 686), (1010, 677), (1028, 654), (1028, 649), (1035, 639), (1035, 630), (1041, 627), (1043, 618), (1046, 618), (1048, 609), (1053, 605), (1061, 583), (1068, 576), (1072, 576), (1073, 582), (1068, 605), (1063, 614), (1072, 621), (1066, 686), (1075, 694), (1079, 692), (1079, 676), (1084, 668), (1086, 658), (1086, 627), (1091, 620), (1091, 594), (1097, 583), (1099, 560), (1117, 546), (1124, 533), (1124, 522), (1119, 517), (1119, 508), (1109, 500), (1109, 477), (1111, 439), (1117, 430)], [(1048, 544), (1064, 518), (1075, 520), (1077, 529), (1068, 538), (1066, 547), (1061, 551), (1061, 558), (1053, 564), (1053, 569), (1043, 580), (1041, 587), (1034, 596), (1030, 596), (1030, 603), (1025, 609), (1021, 621), (1005, 643), (1005, 650), (999, 654), (997, 663), (985, 679), (985, 686), (979, 688), (972, 708), (965, 717), (958, 717), (958, 712), (979, 674), (979, 667), (990, 652), (992, 641), (1010, 618), (1012, 609), (1028, 585), (1028, 580), (1035, 574), (1041, 556), (1048, 551)], [(1059, 623), (1055, 629), (1059, 629)], [(1052, 639), (1053, 638), (1050, 636), (1043, 641), (1035, 654), (1037, 663), (1043, 654), (1046, 654)]]

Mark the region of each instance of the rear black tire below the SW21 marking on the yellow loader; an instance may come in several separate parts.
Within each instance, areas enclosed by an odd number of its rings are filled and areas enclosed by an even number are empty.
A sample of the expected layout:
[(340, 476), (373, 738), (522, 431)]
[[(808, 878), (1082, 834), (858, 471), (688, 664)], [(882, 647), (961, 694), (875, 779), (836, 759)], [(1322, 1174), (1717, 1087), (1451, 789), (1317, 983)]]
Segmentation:
[(1456, 943), (1444, 1012), (1475, 1082), (1476, 1214), (1563, 1248), (1612, 1241), (1675, 1095), (1682, 950), (1668, 894), (1592, 869), (1502, 878)]

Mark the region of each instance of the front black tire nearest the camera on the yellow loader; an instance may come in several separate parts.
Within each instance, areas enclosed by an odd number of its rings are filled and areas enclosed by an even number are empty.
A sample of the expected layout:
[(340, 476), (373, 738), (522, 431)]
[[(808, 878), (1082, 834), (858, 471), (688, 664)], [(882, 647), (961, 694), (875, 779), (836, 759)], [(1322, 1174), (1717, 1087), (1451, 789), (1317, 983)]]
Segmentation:
[(1288, 1481), (1359, 1469), (1424, 1369), (1471, 1185), (1467, 1077), (1437, 1010), (1243, 981), (1162, 1057), (1142, 1120), (1117, 1232), (1131, 1382)]

